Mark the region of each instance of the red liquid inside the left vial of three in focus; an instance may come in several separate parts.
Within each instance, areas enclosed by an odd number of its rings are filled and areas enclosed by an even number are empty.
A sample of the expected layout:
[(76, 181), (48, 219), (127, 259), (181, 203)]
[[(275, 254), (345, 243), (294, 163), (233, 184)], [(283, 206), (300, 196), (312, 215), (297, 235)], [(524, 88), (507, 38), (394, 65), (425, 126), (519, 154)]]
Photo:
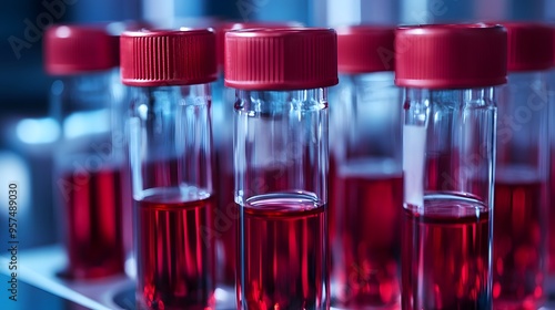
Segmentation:
[(144, 309), (214, 309), (213, 199), (185, 195), (159, 192), (135, 202), (138, 303)]

